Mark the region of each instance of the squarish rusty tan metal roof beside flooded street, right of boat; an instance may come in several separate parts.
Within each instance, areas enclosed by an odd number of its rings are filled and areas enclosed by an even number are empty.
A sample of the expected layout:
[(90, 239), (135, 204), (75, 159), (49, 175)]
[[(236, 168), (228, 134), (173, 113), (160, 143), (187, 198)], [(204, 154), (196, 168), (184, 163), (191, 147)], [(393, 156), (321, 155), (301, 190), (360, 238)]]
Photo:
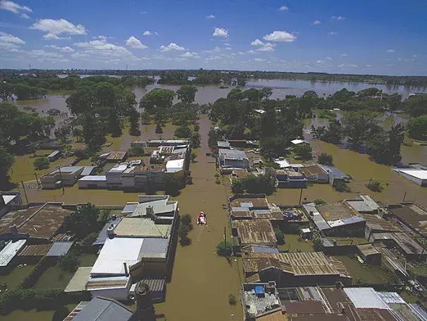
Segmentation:
[(243, 220), (234, 221), (234, 227), (241, 244), (276, 243), (275, 231), (270, 220)]

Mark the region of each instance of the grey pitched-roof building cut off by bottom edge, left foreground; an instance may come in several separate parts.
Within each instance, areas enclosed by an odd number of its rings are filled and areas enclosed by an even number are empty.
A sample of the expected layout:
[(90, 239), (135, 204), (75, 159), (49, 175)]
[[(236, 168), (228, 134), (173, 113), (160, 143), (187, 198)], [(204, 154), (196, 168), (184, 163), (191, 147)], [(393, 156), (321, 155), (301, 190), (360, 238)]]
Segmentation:
[(89, 302), (82, 301), (64, 321), (128, 321), (133, 311), (112, 298), (97, 296)]

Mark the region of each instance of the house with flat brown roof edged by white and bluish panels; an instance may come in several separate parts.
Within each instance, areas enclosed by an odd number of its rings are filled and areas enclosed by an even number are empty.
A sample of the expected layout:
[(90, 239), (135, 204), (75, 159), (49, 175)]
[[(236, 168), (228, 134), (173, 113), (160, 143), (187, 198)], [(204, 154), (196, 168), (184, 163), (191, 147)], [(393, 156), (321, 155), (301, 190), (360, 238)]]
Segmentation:
[(363, 236), (366, 219), (345, 201), (315, 205), (303, 204), (308, 217), (320, 232), (330, 236)]

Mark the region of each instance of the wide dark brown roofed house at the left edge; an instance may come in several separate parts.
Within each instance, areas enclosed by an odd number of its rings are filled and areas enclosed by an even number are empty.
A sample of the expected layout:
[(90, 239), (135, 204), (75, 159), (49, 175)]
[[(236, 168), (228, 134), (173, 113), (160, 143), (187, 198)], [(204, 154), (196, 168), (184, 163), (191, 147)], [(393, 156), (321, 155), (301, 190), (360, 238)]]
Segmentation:
[(64, 223), (65, 216), (73, 213), (69, 206), (59, 203), (23, 205), (0, 218), (0, 239), (29, 239), (32, 243), (52, 240)]

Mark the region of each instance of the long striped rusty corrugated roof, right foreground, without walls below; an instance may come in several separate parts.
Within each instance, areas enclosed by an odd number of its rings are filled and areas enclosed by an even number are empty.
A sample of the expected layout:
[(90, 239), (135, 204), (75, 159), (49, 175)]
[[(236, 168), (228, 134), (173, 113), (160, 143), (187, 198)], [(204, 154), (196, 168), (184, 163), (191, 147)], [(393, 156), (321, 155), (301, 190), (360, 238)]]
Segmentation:
[(243, 255), (245, 272), (261, 272), (271, 267), (295, 276), (339, 274), (323, 252), (249, 253)]

